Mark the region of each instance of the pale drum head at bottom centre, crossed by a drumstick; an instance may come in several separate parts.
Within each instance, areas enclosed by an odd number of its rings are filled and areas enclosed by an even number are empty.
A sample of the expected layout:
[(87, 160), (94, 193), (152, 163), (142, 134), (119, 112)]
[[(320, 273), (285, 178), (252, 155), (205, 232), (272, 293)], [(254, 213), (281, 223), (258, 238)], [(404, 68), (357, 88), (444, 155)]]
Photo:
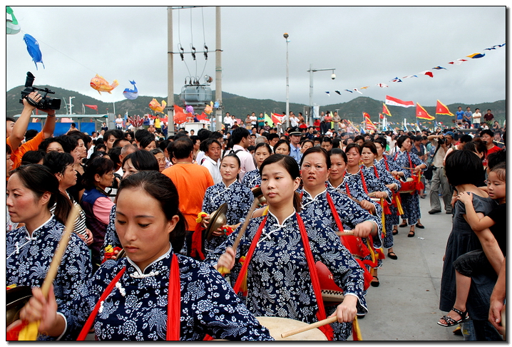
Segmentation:
[(276, 341), (327, 341), (327, 337), (318, 328), (297, 333), (287, 338), (281, 337), (282, 333), (309, 325), (302, 321), (280, 317), (256, 317), (256, 319), (270, 331), (270, 336), (275, 338)]

